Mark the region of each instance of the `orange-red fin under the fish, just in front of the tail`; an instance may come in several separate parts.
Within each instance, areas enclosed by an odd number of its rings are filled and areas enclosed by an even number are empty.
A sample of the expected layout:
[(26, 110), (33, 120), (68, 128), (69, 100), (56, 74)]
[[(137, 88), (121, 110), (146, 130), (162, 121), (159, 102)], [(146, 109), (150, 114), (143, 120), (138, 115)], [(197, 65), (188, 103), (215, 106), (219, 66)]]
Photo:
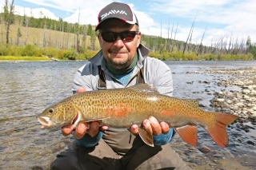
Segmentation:
[(197, 126), (186, 125), (180, 128), (175, 128), (175, 130), (186, 143), (191, 144), (192, 146), (198, 144)]

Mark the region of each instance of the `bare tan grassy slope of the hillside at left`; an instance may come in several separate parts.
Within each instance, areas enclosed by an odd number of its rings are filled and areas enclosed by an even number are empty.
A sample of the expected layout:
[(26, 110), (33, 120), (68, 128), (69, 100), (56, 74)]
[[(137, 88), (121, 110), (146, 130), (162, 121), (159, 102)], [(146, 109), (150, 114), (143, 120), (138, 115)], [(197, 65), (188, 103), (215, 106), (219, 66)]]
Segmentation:
[[(18, 29), (21, 36), (18, 37)], [(77, 44), (82, 45), (83, 35), (77, 36), (74, 33), (60, 32), (42, 28), (32, 28), (19, 25), (10, 25), (10, 44), (24, 46), (27, 44), (37, 45), (38, 47), (51, 46), (58, 49), (72, 49)], [(0, 24), (0, 44), (6, 43), (6, 26)], [(95, 42), (96, 49), (99, 49), (98, 41)], [(90, 36), (86, 36), (85, 47), (91, 46)]]

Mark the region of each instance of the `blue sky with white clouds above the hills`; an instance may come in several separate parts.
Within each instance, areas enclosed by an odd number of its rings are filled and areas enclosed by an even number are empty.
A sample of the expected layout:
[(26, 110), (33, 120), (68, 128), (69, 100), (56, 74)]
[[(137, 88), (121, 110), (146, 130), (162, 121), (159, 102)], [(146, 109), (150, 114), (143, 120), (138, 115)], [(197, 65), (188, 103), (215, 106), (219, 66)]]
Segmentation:
[[(9, 3), (11, 0), (9, 0)], [(14, 0), (15, 14), (62, 18), (66, 22), (98, 24), (98, 12), (111, 0)], [(194, 22), (191, 41), (212, 45), (224, 41), (256, 42), (255, 0), (126, 0), (138, 18), (142, 34), (186, 42)], [(5, 0), (0, 0), (2, 7)], [(2, 10), (2, 8), (1, 8)], [(80, 17), (79, 17), (80, 13)], [(203, 37), (203, 34), (205, 35)], [(203, 37), (203, 39), (202, 39)]]

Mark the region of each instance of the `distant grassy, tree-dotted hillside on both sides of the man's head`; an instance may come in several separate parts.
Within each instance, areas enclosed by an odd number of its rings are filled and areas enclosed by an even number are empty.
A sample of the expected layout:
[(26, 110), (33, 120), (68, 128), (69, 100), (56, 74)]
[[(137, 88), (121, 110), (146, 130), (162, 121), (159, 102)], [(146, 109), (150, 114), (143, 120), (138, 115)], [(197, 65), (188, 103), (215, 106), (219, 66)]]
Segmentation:
[[(3, 18), (5, 18), (5, 14), (0, 13), (0, 45), (6, 43), (6, 25), (4, 24), (6, 20)], [(100, 49), (97, 33), (94, 31), (94, 26), (91, 25), (71, 24), (64, 22), (62, 18), (57, 21), (46, 17), (33, 18), (20, 15), (12, 15), (10, 23), (9, 43), (11, 45), (75, 49), (78, 53), (84, 53), (86, 49), (93, 51)], [(174, 33), (172, 34), (174, 35)], [(206, 46), (201, 43), (193, 44), (190, 42), (191, 37), (192, 33), (187, 38), (188, 42), (182, 42), (170, 38), (142, 34), (141, 42), (151, 49), (151, 52), (158, 53), (160, 57), (162, 57), (162, 53), (165, 53), (165, 58), (173, 58), (171, 53), (177, 52), (178, 58), (184, 57), (185, 54), (193, 56), (192, 58), (206, 54), (214, 55), (214, 57), (210, 58), (220, 58), (222, 55), (240, 55), (248, 52), (253, 53), (254, 57), (256, 56), (256, 46), (250, 45), (250, 48), (248, 48), (245, 42), (231, 42), (231, 38), (230, 42), (227, 42), (227, 38), (222, 38), (218, 42), (213, 42), (212, 45)]]

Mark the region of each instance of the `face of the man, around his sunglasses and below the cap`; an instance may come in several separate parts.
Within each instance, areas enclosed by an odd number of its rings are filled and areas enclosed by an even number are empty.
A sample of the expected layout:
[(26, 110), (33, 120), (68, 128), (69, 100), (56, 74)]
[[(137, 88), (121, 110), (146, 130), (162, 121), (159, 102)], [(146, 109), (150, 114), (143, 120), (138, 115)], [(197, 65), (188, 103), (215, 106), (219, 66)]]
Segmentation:
[[(100, 32), (121, 33), (123, 31), (138, 31), (138, 26), (130, 25), (119, 19), (109, 19), (106, 23), (102, 23)], [(122, 41), (120, 36), (114, 42), (106, 42), (101, 34), (98, 34), (98, 41), (102, 48), (103, 56), (106, 61), (115, 69), (125, 69), (133, 61), (135, 53), (137, 53), (140, 44), (141, 33), (135, 35), (134, 40), (130, 42)]]

